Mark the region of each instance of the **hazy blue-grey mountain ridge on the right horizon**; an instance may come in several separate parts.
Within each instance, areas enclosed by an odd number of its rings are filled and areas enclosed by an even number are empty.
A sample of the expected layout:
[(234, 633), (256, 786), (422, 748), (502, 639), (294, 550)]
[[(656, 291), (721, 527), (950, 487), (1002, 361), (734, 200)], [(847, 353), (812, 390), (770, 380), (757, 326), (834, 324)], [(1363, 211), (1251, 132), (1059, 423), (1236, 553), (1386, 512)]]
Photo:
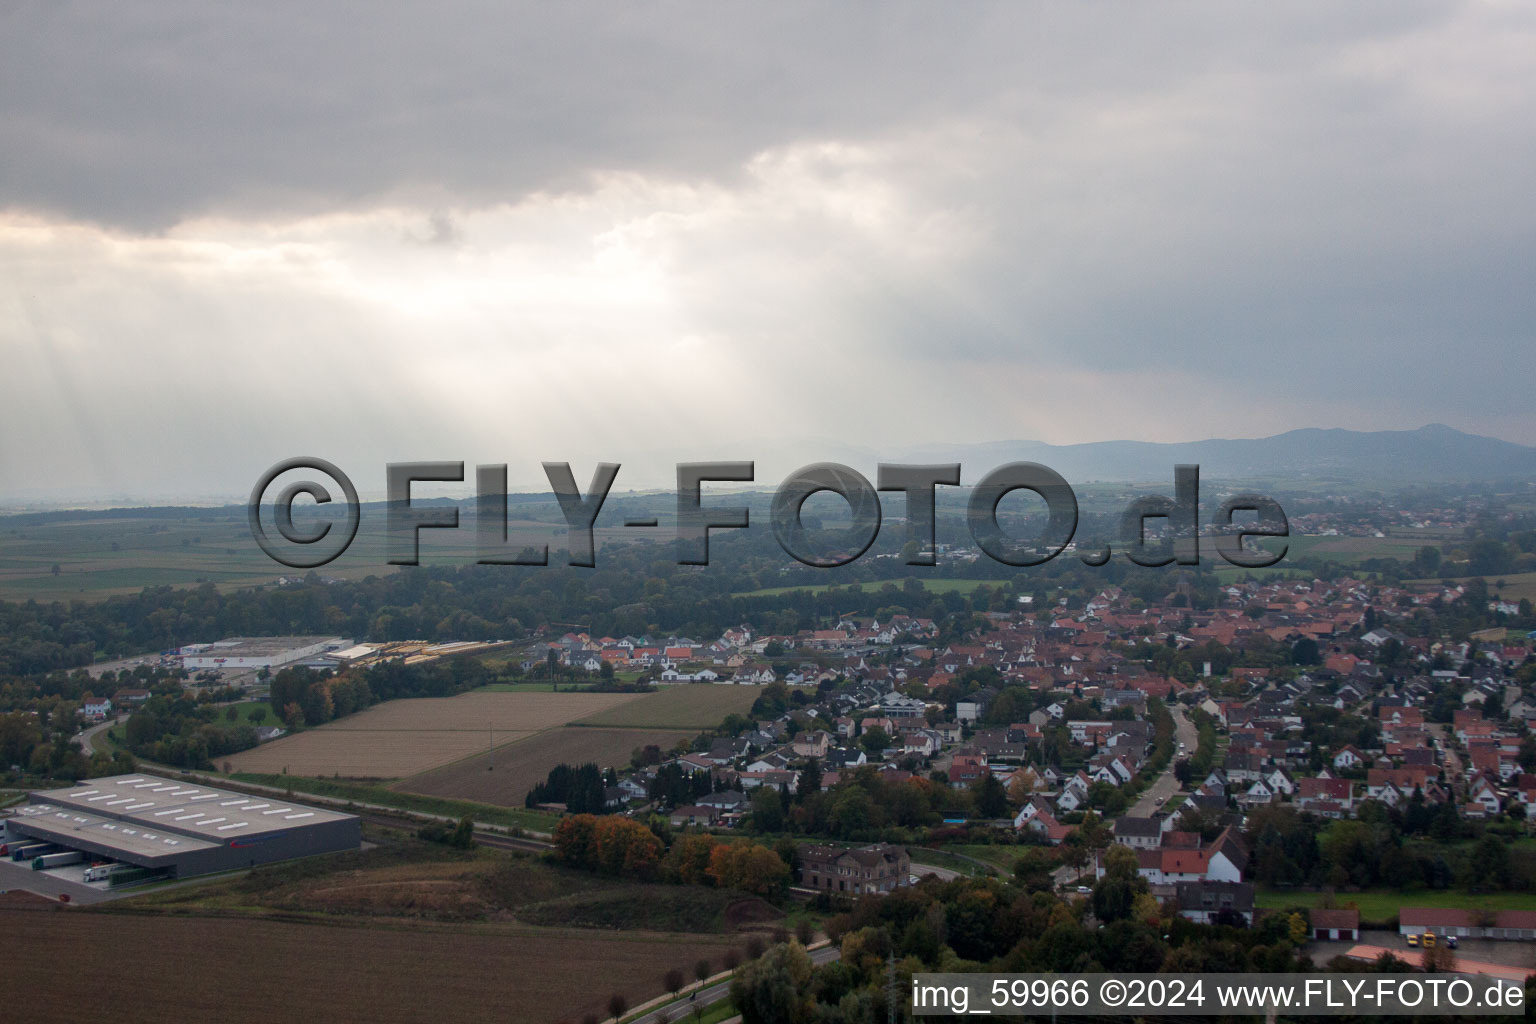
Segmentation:
[[(871, 453), (889, 462), (892, 453)], [(1341, 479), (1459, 482), (1536, 477), (1536, 447), (1468, 434), (1444, 424), (1418, 430), (1289, 430), (1270, 438), (1175, 444), (1097, 441), (1052, 445), (1041, 441), (919, 445), (902, 461), (960, 462), (971, 468), (1040, 462), (1069, 482), (1161, 481), (1174, 465), (1193, 462), (1201, 476), (1224, 479)], [(985, 471), (985, 470), (983, 470)]]

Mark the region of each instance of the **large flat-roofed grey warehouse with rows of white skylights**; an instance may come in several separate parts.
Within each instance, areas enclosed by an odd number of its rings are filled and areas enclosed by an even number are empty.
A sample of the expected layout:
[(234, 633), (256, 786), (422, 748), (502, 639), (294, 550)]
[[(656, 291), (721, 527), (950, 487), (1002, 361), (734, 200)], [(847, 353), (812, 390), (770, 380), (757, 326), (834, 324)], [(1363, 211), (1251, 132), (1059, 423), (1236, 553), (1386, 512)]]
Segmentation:
[(51, 843), (170, 878), (356, 849), (362, 821), (276, 797), (117, 775), (31, 794), (6, 818), (6, 841)]

